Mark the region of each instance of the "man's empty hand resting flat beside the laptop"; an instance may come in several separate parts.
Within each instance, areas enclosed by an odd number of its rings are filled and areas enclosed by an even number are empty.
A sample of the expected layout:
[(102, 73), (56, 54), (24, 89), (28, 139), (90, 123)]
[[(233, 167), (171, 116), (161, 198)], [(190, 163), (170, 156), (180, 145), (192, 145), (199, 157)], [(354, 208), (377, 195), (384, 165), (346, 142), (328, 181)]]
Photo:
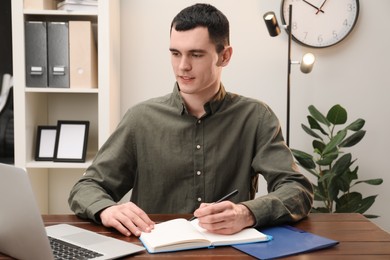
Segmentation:
[(102, 224), (113, 227), (125, 236), (140, 236), (141, 232), (150, 232), (154, 222), (132, 202), (108, 207), (100, 213)]

